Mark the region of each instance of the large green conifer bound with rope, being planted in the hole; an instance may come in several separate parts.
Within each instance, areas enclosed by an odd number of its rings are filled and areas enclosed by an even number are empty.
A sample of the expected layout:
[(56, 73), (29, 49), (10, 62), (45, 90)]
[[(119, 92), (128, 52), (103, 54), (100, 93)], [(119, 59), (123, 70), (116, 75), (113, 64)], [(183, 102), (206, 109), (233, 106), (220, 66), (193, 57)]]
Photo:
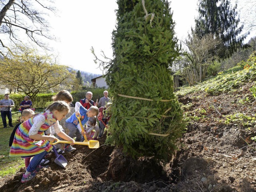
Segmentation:
[(169, 3), (117, 3), (114, 60), (106, 73), (114, 97), (108, 142), (123, 146), (124, 152), (134, 157), (166, 159), (185, 129), (170, 75), (180, 48), (174, 37)]

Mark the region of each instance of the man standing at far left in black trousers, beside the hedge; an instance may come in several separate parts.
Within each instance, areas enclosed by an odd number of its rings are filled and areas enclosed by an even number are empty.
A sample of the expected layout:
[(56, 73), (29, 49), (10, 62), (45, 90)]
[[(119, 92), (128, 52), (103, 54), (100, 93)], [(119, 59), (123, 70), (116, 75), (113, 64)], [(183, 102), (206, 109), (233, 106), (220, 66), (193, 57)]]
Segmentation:
[(9, 99), (9, 94), (4, 94), (4, 99), (0, 100), (1, 117), (4, 124), (4, 128), (7, 128), (6, 116), (9, 120), (9, 126), (12, 125), (12, 107), (14, 106), (13, 100)]

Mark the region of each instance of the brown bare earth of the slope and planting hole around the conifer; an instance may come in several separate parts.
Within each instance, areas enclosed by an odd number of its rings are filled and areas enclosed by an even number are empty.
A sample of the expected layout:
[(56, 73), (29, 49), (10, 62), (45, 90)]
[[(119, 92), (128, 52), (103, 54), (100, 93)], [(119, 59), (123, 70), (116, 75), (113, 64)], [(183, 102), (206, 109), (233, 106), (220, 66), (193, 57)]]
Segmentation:
[[(50, 167), (40, 170), (36, 178), (22, 184), (22, 168), (14, 176), (0, 179), (0, 191), (255, 192), (256, 144), (249, 139), (256, 135), (255, 128), (224, 123), (227, 114), (255, 114), (252, 98), (238, 102), (249, 97), (247, 90), (180, 97), (186, 114), (196, 114), (200, 119), (189, 122), (179, 141), (182, 148), (168, 163), (157, 163), (152, 158), (132, 160), (122, 149), (104, 145), (104, 135), (96, 150), (76, 146), (73, 153), (65, 153), (65, 169), (55, 164), (51, 155)], [(252, 124), (255, 127), (255, 122)]]

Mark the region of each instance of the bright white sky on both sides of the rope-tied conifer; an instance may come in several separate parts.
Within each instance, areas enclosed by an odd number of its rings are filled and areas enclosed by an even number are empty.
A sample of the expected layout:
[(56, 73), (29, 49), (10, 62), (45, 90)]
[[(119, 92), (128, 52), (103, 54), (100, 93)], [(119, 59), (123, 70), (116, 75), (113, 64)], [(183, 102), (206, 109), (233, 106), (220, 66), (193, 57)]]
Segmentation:
[[(170, 0), (169, 0), (170, 1)], [(243, 0), (242, 0), (243, 1)], [(171, 0), (175, 32), (178, 39), (185, 39), (197, 12), (198, 0)], [(59, 17), (51, 18), (52, 33), (58, 42), (52, 42), (60, 64), (71, 66), (94, 74), (102, 74), (94, 63), (90, 49), (93, 46), (97, 56), (103, 50), (112, 58), (112, 31), (116, 24), (114, 10), (116, 0), (77, 0), (74, 6), (64, 0), (55, 0)]]

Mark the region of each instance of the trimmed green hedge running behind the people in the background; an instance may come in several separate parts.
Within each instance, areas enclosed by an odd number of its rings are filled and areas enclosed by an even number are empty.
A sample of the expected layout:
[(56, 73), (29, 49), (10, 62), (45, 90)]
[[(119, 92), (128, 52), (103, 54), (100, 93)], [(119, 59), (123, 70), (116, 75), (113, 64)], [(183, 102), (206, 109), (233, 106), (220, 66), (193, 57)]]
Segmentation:
[[(106, 89), (103, 88), (94, 88), (90, 90), (84, 90), (84, 91), (73, 91), (71, 92), (73, 96), (73, 104), (75, 104), (77, 101), (80, 101), (80, 99), (85, 98), (85, 94), (88, 91), (92, 92), (92, 100), (96, 102), (96, 100), (100, 100), (101, 97), (103, 97), (103, 92)], [(34, 98), (32, 98), (32, 108), (36, 109), (44, 109), (47, 107), (48, 102), (52, 101), (52, 96), (54, 96), (56, 93), (49, 93), (49, 94), (37, 94)], [(20, 108), (20, 102), (24, 100), (25, 95), (20, 94), (10, 94), (10, 99), (14, 101), (15, 106), (12, 108), (12, 110), (18, 110)], [(110, 94), (108, 95), (110, 96)], [(3, 94), (0, 94), (0, 100), (4, 98)]]

